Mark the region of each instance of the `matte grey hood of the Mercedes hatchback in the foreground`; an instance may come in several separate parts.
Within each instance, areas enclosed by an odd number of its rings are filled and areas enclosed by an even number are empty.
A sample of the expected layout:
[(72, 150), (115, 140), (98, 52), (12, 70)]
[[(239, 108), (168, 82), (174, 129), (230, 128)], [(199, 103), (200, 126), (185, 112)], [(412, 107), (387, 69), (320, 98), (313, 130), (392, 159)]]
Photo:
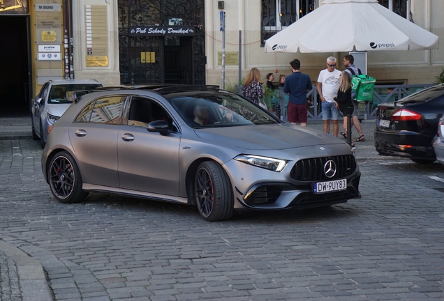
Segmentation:
[(343, 144), (331, 134), (289, 123), (198, 129), (195, 133), (201, 139), (251, 150)]

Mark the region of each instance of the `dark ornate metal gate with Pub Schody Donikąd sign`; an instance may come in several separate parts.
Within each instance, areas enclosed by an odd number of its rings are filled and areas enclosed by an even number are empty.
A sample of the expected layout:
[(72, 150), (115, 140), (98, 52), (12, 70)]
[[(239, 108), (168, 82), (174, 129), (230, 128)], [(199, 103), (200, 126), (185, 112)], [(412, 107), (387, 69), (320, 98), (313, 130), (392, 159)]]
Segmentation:
[(204, 0), (119, 0), (121, 84), (205, 84)]

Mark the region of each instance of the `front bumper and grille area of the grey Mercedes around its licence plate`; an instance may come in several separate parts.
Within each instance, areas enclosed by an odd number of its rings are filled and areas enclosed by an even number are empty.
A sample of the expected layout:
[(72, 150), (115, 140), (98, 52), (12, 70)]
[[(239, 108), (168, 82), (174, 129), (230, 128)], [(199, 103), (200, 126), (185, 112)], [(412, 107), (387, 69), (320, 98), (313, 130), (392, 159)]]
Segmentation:
[[(340, 157), (347, 158), (345, 164)], [(235, 194), (235, 209), (303, 209), (346, 203), (348, 199), (360, 198), (359, 183), (361, 173), (353, 155), (329, 156), (327, 158), (328, 160), (332, 159), (343, 164), (343, 170), (333, 180), (347, 179), (346, 190), (322, 194), (316, 194), (313, 191), (313, 183), (330, 180), (325, 178), (324, 173), (316, 171), (319, 167), (323, 168), (324, 161), (327, 159), (299, 160), (299, 162), (309, 161), (311, 167), (297, 167), (297, 163), (295, 163), (293, 167), (288, 167), (288, 169), (280, 173), (251, 167), (234, 160), (228, 162), (226, 167), (231, 171), (230, 177), (232, 178)], [(313, 160), (318, 160), (318, 164), (313, 163)], [(295, 172), (296, 169), (297, 172)], [(236, 176), (233, 177), (233, 174)]]

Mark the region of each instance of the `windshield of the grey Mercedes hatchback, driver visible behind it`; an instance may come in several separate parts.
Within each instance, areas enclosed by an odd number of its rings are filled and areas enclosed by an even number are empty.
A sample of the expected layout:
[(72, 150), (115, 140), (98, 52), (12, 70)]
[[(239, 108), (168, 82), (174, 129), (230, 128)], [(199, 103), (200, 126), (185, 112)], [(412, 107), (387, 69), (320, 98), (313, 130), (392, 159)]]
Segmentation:
[(234, 93), (185, 92), (167, 96), (192, 128), (274, 124), (279, 121)]

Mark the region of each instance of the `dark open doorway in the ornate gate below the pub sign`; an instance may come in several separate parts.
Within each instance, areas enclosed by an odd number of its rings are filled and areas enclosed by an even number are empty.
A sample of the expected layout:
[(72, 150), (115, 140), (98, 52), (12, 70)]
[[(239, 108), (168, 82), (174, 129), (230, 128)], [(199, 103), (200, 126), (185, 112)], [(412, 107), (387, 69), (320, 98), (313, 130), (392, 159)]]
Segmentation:
[(165, 38), (165, 84), (193, 84), (193, 39)]

